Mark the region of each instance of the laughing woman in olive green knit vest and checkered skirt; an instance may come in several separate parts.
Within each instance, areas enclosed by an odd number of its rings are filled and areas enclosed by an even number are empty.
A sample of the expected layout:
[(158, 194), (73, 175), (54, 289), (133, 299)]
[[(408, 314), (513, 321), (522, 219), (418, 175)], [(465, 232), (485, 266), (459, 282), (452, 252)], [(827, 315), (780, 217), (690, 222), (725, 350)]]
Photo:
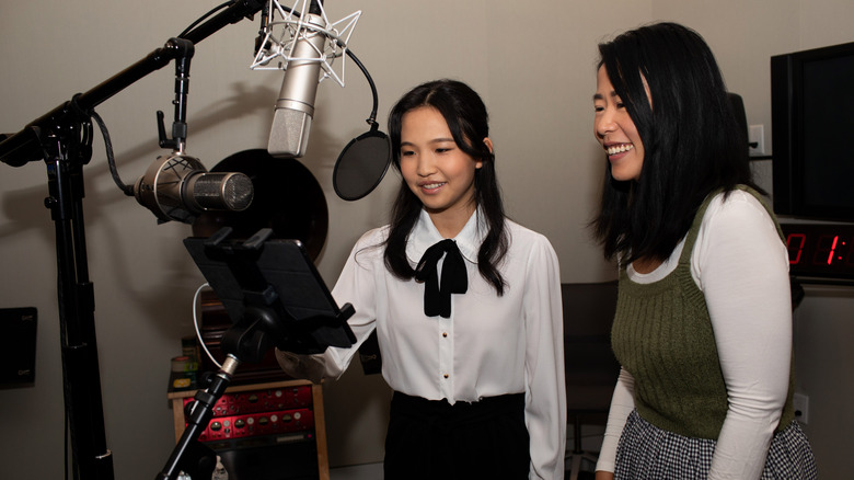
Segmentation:
[(815, 478), (792, 402), (788, 253), (711, 49), (659, 23), (599, 53), (592, 227), (620, 264), (622, 370), (597, 479)]

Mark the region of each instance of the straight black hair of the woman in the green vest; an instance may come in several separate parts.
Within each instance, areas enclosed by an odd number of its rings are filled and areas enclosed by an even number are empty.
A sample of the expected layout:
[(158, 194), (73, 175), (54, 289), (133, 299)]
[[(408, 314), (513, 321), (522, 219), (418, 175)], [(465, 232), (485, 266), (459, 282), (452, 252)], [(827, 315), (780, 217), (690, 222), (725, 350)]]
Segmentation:
[(627, 182), (614, 180), (608, 165), (591, 226), (607, 259), (665, 260), (709, 193), (738, 184), (759, 190), (746, 134), (712, 50), (693, 30), (642, 26), (600, 44), (599, 54), (641, 136), (644, 162), (639, 179)]

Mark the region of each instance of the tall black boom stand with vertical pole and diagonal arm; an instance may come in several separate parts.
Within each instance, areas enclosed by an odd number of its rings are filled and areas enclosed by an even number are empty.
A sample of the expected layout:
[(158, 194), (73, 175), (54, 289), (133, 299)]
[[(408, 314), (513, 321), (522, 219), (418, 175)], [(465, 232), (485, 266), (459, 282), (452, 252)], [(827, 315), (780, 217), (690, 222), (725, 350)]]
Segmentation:
[[(0, 161), (22, 167), (44, 159), (49, 196), (45, 206), (56, 225), (57, 297), (62, 340), (62, 380), (70, 424), (74, 478), (113, 479), (106, 448), (101, 375), (94, 323), (94, 287), (89, 279), (82, 199), (83, 165), (92, 158), (92, 124), (86, 112), (137, 80), (180, 58), (191, 46), (264, 8), (263, 0), (238, 0), (182, 38), (170, 39), (143, 59), (73, 96), (8, 138)], [(236, 365), (235, 365), (236, 366)], [(223, 387), (224, 389), (224, 387)]]

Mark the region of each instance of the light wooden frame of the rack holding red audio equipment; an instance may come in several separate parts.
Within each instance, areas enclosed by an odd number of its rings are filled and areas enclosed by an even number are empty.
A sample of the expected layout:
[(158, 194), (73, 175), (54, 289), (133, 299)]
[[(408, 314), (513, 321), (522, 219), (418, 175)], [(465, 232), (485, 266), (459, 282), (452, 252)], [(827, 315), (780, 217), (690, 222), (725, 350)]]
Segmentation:
[[(320, 480), (330, 480), (330, 459), (326, 455), (326, 420), (323, 413), (323, 387), (321, 385), (315, 385), (308, 380), (267, 381), (231, 386), (226, 389), (226, 393), (307, 385), (311, 386), (311, 402), (314, 413), (314, 442), (318, 449), (318, 473)], [(171, 391), (166, 395), (166, 398), (172, 400), (172, 418), (174, 421), (176, 443), (181, 439), (181, 435), (184, 434), (184, 426), (186, 425), (184, 419), (184, 399), (195, 396), (196, 391), (197, 390)]]

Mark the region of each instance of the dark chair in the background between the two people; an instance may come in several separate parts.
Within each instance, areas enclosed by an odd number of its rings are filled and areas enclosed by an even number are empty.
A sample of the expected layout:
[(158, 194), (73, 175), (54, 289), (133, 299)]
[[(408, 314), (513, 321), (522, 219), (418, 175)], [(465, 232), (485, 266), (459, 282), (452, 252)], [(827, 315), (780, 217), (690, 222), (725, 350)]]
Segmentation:
[(611, 351), (616, 281), (562, 284), (567, 419), (573, 449), (565, 458), (569, 480), (595, 471), (598, 455), (581, 448), (581, 425), (604, 425), (620, 364)]

